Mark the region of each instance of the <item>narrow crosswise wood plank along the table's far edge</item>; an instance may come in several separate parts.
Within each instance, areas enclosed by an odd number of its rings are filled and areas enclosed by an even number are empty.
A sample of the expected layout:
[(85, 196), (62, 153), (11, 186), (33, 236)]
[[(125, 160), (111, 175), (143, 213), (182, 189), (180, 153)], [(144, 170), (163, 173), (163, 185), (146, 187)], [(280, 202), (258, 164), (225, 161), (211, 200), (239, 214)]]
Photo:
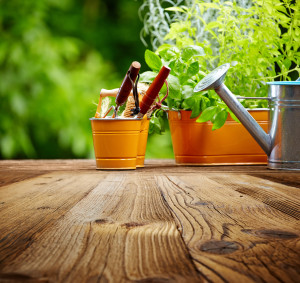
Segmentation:
[[(96, 170), (95, 160), (0, 160), (0, 184), (8, 174), (45, 174), (54, 171), (84, 171), (107, 174), (109, 170)], [(265, 165), (259, 166), (181, 166), (171, 159), (149, 159), (145, 161), (144, 168), (126, 171), (127, 174), (142, 172), (143, 175), (152, 174), (195, 174), (195, 173), (244, 173), (269, 179), (273, 182), (300, 188), (300, 174), (295, 171), (269, 170)]]

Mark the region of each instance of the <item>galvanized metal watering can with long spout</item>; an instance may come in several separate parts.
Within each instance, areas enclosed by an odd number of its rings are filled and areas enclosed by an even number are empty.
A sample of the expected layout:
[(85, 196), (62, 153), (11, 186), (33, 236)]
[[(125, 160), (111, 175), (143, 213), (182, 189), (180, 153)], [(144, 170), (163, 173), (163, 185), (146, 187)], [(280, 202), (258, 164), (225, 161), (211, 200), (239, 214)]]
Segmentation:
[(270, 169), (300, 170), (300, 81), (270, 82), (269, 134), (223, 83), (230, 64), (214, 69), (194, 92), (214, 89), (268, 155)]

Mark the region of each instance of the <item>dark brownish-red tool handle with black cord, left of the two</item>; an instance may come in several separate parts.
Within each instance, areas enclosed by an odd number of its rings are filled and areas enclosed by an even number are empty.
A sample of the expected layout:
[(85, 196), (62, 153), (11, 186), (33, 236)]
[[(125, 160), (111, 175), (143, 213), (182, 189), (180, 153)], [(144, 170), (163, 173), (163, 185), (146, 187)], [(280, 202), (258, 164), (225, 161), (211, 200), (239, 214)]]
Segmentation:
[[(138, 73), (140, 71), (141, 64), (137, 61), (132, 62), (132, 64), (129, 67), (129, 70), (121, 84), (121, 87), (119, 88), (119, 91), (117, 93), (116, 97), (116, 105), (121, 106), (125, 103), (127, 100), (131, 90), (132, 90), (132, 82), (135, 82), (136, 77), (138, 76)], [(129, 77), (130, 76), (130, 77)], [(131, 80), (130, 80), (131, 78)]]

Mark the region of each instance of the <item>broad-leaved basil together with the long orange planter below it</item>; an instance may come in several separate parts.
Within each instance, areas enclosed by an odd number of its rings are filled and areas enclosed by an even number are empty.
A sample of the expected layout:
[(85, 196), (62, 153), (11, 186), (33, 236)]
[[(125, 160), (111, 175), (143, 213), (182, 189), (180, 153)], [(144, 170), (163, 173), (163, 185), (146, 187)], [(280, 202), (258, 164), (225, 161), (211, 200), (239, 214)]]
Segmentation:
[[(178, 164), (263, 164), (267, 157), (224, 102), (211, 91), (195, 94), (194, 87), (205, 75), (200, 70), (204, 51), (189, 45), (182, 49), (163, 45), (157, 54), (146, 50), (145, 60), (153, 71), (142, 74), (141, 80), (151, 82), (162, 64), (172, 68), (169, 75), (167, 105), (175, 160)], [(167, 59), (172, 58), (171, 62)], [(174, 59), (176, 58), (176, 59)], [(175, 60), (175, 61), (174, 61)], [(265, 110), (251, 111), (267, 131)], [(250, 113), (251, 113), (250, 112)], [(228, 115), (229, 114), (229, 115)], [(154, 113), (150, 131), (159, 132), (162, 111)], [(218, 129), (217, 131), (214, 131)]]

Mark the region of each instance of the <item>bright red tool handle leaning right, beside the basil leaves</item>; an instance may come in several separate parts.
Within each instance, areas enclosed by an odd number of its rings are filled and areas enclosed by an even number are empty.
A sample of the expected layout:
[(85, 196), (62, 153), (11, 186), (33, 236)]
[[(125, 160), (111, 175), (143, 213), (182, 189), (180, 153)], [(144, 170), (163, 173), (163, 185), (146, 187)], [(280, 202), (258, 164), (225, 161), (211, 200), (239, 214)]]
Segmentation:
[[(158, 96), (159, 91), (164, 85), (165, 80), (167, 79), (168, 75), (170, 74), (171, 69), (169, 67), (163, 66), (159, 71), (158, 75), (149, 86), (146, 94), (143, 96), (143, 99), (140, 103), (140, 113), (145, 115), (147, 111), (150, 109), (152, 103)], [(141, 116), (141, 115), (139, 115)]]

